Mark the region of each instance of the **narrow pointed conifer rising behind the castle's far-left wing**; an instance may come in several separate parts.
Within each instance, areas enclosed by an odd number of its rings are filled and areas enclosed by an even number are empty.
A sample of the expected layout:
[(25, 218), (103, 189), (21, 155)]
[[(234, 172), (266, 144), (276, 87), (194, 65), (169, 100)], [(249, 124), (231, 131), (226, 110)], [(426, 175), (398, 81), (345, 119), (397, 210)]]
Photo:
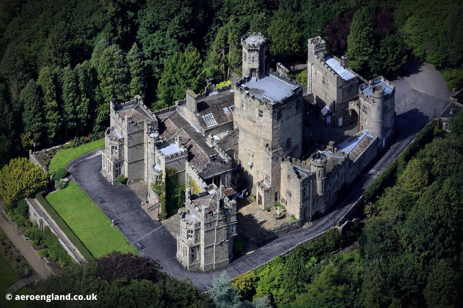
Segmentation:
[(127, 64), (129, 65), (130, 96), (140, 95), (144, 97), (144, 62), (137, 43), (133, 43), (132, 48), (127, 53)]

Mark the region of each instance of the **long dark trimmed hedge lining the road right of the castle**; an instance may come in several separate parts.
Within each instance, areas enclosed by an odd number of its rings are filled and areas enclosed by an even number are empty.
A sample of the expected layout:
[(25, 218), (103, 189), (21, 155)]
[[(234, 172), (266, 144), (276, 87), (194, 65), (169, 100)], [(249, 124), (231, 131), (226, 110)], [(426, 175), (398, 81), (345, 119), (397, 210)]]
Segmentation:
[(394, 184), (395, 173), (398, 168), (405, 168), (408, 161), (413, 155), (426, 143), (431, 141), (434, 133), (435, 122), (426, 124), (418, 133), (416, 133), (413, 141), (405, 148), (399, 157), (381, 172), (381, 174), (365, 189), (363, 197), (365, 202), (375, 202), (376, 199), (381, 196), (384, 189)]

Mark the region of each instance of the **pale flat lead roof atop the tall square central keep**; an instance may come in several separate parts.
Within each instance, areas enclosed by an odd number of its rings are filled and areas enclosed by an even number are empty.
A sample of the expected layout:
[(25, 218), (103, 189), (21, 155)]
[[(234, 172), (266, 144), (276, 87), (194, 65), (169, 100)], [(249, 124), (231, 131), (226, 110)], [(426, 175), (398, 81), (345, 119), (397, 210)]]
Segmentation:
[(245, 86), (249, 88), (250, 94), (254, 94), (254, 97), (262, 100), (262, 97), (265, 95), (275, 101), (279, 101), (288, 94), (291, 94), (291, 89), (294, 88), (294, 85), (288, 84), (286, 81), (269, 74), (266, 74), (265, 77), (259, 80), (256, 80), (256, 77), (252, 77)]

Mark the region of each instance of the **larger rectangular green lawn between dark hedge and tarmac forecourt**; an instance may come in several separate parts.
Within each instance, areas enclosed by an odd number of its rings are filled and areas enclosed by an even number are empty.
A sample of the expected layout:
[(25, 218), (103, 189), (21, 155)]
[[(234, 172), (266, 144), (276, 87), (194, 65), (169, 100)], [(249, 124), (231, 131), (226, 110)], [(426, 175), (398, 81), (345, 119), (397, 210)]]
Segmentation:
[(45, 198), (95, 258), (112, 252), (138, 254), (76, 182)]

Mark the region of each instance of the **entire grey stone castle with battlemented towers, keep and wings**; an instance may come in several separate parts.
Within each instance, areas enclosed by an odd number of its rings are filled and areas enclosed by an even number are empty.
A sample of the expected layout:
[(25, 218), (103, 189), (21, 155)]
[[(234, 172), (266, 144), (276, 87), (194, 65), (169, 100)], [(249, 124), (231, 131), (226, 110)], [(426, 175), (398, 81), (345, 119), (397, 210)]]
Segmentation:
[[(254, 193), (262, 209), (282, 203), (305, 223), (325, 212), (394, 134), (394, 85), (362, 79), (315, 37), (308, 42), (308, 93), (326, 125), (358, 123), (358, 132), (338, 145), (315, 144), (301, 160), (303, 87), (281, 63), (276, 71), (265, 66), (266, 42), (261, 33), (241, 39), (242, 76), (230, 86), (187, 90), (175, 106), (155, 112), (139, 96), (110, 102), (101, 173), (113, 184), (122, 175), (129, 184), (151, 185), (167, 168), (178, 171), (187, 189), (176, 257), (188, 269), (232, 260), (237, 193)], [(160, 202), (151, 189), (147, 198)]]

